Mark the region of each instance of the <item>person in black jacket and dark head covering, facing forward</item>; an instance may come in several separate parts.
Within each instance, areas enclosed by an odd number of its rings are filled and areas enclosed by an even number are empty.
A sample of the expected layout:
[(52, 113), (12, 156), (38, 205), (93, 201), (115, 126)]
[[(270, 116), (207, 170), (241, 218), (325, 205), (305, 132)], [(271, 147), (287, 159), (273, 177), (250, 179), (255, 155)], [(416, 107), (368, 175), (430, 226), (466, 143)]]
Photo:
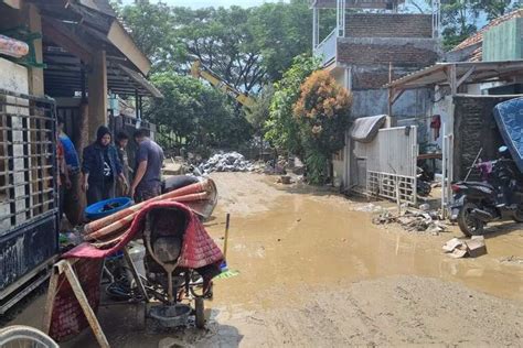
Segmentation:
[(111, 138), (109, 129), (100, 126), (96, 132), (96, 141), (84, 149), (82, 189), (87, 194), (88, 205), (114, 198), (118, 178), (127, 185), (118, 152), (110, 143)]

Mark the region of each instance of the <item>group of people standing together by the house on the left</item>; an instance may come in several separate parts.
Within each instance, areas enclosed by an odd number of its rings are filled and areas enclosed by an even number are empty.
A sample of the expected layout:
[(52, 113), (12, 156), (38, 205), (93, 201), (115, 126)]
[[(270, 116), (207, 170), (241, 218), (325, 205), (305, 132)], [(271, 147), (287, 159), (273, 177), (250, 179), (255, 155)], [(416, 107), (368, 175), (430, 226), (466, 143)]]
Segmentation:
[(84, 149), (81, 164), (73, 142), (64, 132), (64, 122), (58, 119), (56, 152), (62, 198), (63, 192), (72, 187), (75, 176), (81, 173), (81, 187), (87, 205), (115, 196), (143, 202), (160, 195), (163, 150), (148, 138), (145, 130), (137, 130), (134, 139), (138, 144), (134, 170), (129, 166), (126, 150), (129, 137), (118, 133), (114, 145), (113, 134), (105, 126), (98, 128), (96, 141)]

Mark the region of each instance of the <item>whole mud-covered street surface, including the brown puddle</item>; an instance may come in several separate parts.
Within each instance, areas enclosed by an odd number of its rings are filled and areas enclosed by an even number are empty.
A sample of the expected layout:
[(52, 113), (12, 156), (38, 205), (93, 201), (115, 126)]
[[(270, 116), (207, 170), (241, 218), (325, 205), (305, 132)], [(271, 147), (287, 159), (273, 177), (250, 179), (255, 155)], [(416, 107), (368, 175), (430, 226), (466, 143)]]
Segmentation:
[[(366, 202), (281, 186), (257, 174), (213, 174), (221, 195), (207, 228), (228, 267), (215, 281), (206, 330), (138, 330), (132, 306), (103, 306), (114, 347), (523, 346), (523, 230), (487, 236), (488, 254), (453, 260), (459, 236), (371, 224)], [(17, 323), (38, 325), (43, 298)], [(96, 347), (90, 333), (65, 347)]]

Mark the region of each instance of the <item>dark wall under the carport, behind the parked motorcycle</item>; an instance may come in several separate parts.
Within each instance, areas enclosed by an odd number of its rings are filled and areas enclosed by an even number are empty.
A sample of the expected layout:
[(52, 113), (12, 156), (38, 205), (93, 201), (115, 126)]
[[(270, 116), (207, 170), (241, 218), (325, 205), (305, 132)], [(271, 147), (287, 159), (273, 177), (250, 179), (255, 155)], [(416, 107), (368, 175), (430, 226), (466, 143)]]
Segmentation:
[[(483, 160), (497, 159), (498, 148), (503, 144), (503, 140), (492, 109), (503, 100), (506, 98), (456, 97), (453, 180), (465, 178), (481, 148)], [(479, 178), (478, 171), (472, 171), (471, 178)]]

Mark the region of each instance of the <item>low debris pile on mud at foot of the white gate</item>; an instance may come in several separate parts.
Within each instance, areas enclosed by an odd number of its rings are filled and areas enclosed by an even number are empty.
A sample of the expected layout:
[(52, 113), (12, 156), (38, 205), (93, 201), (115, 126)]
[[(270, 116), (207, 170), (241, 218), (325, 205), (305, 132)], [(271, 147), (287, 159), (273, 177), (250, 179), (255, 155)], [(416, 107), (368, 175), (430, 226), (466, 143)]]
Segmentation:
[(407, 209), (396, 216), (388, 210), (382, 210), (373, 217), (372, 222), (374, 225), (399, 224), (406, 231), (426, 232), (434, 236), (447, 230), (447, 225), (439, 220), (439, 215), (436, 211)]

